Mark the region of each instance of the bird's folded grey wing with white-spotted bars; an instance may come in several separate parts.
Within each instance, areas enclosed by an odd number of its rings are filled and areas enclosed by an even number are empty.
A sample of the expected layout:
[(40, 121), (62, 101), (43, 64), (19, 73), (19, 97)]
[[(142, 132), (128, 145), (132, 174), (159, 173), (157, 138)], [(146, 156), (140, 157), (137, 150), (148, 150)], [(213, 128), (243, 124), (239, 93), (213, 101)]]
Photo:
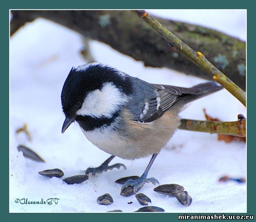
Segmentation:
[(152, 84), (156, 97), (145, 99), (144, 107), (140, 114), (133, 119), (136, 122), (148, 123), (160, 118), (183, 94), (182, 87)]

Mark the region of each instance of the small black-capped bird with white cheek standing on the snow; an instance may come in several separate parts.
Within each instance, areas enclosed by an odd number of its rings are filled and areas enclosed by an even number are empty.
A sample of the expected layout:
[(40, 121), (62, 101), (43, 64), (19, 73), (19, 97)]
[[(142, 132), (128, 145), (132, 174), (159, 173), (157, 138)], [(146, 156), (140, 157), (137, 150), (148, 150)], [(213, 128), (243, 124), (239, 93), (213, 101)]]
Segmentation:
[(80, 65), (71, 69), (62, 88), (66, 119), (61, 132), (76, 121), (89, 141), (112, 155), (86, 174), (125, 167), (109, 166), (115, 156), (134, 160), (152, 155), (144, 173), (121, 189), (121, 195), (128, 186), (136, 193), (145, 183), (158, 183), (147, 178), (148, 171), (180, 126), (178, 114), (185, 104), (221, 89), (215, 82), (191, 88), (151, 84), (101, 63)]

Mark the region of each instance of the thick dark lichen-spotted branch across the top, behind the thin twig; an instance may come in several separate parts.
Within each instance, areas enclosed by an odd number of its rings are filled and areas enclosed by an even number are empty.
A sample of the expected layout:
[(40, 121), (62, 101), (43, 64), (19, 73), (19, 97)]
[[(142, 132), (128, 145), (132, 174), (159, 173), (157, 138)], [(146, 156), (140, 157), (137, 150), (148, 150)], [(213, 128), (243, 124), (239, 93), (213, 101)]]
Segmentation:
[[(20, 24), (38, 17), (46, 18), (83, 36), (104, 42), (123, 54), (143, 61), (146, 66), (166, 67), (212, 80), (130, 11), (13, 10), (12, 14), (11, 34), (18, 30)], [(202, 26), (156, 19), (192, 49), (203, 52), (212, 64), (245, 90), (245, 42)]]

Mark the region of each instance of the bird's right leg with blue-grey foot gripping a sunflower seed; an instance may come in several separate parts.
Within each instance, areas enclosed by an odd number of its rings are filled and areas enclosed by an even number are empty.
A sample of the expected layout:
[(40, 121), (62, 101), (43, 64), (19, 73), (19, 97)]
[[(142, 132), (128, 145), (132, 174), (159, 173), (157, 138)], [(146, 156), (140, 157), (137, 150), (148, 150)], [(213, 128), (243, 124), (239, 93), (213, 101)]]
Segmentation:
[(153, 154), (150, 163), (148, 163), (145, 172), (136, 180), (130, 179), (128, 181), (125, 182), (125, 184), (122, 186), (121, 188), (121, 193), (120, 195), (122, 196), (128, 196), (128, 195), (132, 195), (132, 194), (125, 194), (124, 190), (131, 186), (133, 187), (133, 193), (136, 193), (141, 187), (144, 186), (145, 183), (152, 183), (154, 185), (159, 184), (158, 180), (156, 180), (154, 177), (151, 178), (146, 178), (147, 177), (147, 173), (148, 171), (150, 171), (150, 168), (154, 162), (154, 160), (156, 159), (158, 153)]

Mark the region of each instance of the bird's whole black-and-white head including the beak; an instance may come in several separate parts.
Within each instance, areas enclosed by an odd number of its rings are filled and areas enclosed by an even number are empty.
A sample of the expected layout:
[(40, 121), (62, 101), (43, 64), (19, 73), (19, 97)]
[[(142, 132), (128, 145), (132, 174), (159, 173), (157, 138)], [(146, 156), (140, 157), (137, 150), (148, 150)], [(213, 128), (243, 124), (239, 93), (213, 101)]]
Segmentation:
[(61, 132), (74, 121), (84, 130), (103, 125), (117, 116), (130, 93), (129, 76), (110, 66), (89, 63), (72, 68), (61, 92), (66, 116)]

